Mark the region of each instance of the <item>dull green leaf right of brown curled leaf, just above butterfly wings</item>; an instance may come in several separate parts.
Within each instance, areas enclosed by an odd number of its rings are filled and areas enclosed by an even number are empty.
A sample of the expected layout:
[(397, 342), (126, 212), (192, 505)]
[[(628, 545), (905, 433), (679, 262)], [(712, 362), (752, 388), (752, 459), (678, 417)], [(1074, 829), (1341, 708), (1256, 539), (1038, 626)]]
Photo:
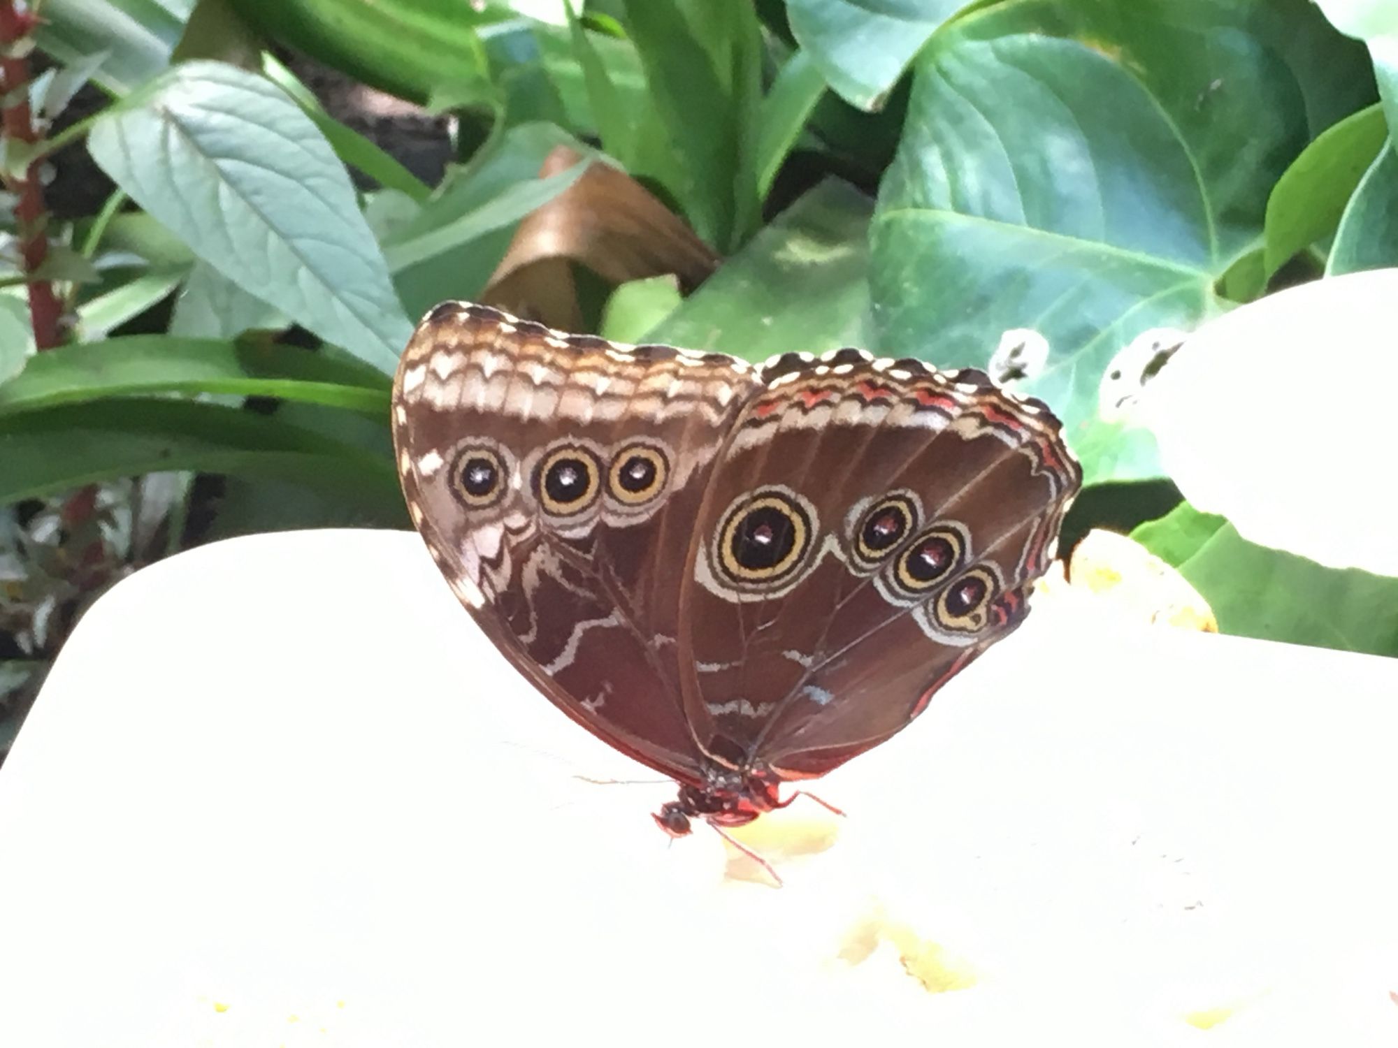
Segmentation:
[(783, 211), (647, 340), (747, 361), (867, 345), (872, 201), (826, 180)]

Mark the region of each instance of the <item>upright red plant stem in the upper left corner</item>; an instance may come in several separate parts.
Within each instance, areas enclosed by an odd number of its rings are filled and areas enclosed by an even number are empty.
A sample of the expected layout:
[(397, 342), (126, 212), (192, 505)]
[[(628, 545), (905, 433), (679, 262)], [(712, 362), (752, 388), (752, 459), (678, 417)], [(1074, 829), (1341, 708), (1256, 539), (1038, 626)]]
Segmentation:
[[(35, 27), (35, 17), (15, 0), (0, 0), (0, 48), (11, 49), (25, 39)], [(0, 56), (0, 91), (10, 94), (29, 82), (29, 63), (24, 57)], [(21, 143), (36, 143), (38, 133), (29, 115), (29, 102), (21, 94), (0, 110), (6, 137)], [(49, 238), (43, 229), (43, 186), (39, 182), (39, 161), (25, 168), (22, 177), (10, 177), (10, 189), (20, 197), (15, 218), (20, 225), (20, 256), (27, 274), (38, 272), (49, 254)], [(34, 324), (34, 344), (52, 349), (60, 341), (63, 306), (46, 279), (29, 281), (29, 321)]]

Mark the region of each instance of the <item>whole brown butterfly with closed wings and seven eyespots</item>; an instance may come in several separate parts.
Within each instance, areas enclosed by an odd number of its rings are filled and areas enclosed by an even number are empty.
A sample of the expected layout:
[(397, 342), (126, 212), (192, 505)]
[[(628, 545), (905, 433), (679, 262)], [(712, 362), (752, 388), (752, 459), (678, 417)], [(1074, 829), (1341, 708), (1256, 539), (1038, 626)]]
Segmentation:
[(555, 706), (741, 826), (906, 727), (1028, 612), (1081, 471), (974, 370), (755, 366), (443, 303), (394, 381), (408, 510)]

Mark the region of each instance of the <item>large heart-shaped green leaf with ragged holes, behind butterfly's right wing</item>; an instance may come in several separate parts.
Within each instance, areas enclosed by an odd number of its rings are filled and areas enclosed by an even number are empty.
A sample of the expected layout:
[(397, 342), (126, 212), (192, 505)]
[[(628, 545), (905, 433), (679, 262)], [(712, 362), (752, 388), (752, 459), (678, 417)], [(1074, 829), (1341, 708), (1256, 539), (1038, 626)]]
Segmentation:
[(881, 189), (879, 349), (986, 366), (1035, 328), (1048, 356), (1018, 387), (1064, 418), (1088, 481), (1159, 475), (1148, 439), (1104, 439), (1103, 373), (1142, 331), (1222, 309), (1213, 282), (1260, 249), (1272, 184), (1371, 98), (1363, 52), (1304, 0), (959, 18), (916, 64)]

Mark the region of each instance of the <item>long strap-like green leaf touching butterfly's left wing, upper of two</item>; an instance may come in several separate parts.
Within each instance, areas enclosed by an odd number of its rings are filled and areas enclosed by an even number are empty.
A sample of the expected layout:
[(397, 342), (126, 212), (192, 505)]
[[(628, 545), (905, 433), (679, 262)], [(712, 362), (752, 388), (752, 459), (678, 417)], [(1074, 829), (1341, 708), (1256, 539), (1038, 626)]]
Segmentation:
[[(377, 372), (373, 372), (377, 376)], [(389, 418), (387, 380), (289, 345), (129, 335), (39, 354), (0, 386), (0, 416), (155, 393), (281, 397)]]

